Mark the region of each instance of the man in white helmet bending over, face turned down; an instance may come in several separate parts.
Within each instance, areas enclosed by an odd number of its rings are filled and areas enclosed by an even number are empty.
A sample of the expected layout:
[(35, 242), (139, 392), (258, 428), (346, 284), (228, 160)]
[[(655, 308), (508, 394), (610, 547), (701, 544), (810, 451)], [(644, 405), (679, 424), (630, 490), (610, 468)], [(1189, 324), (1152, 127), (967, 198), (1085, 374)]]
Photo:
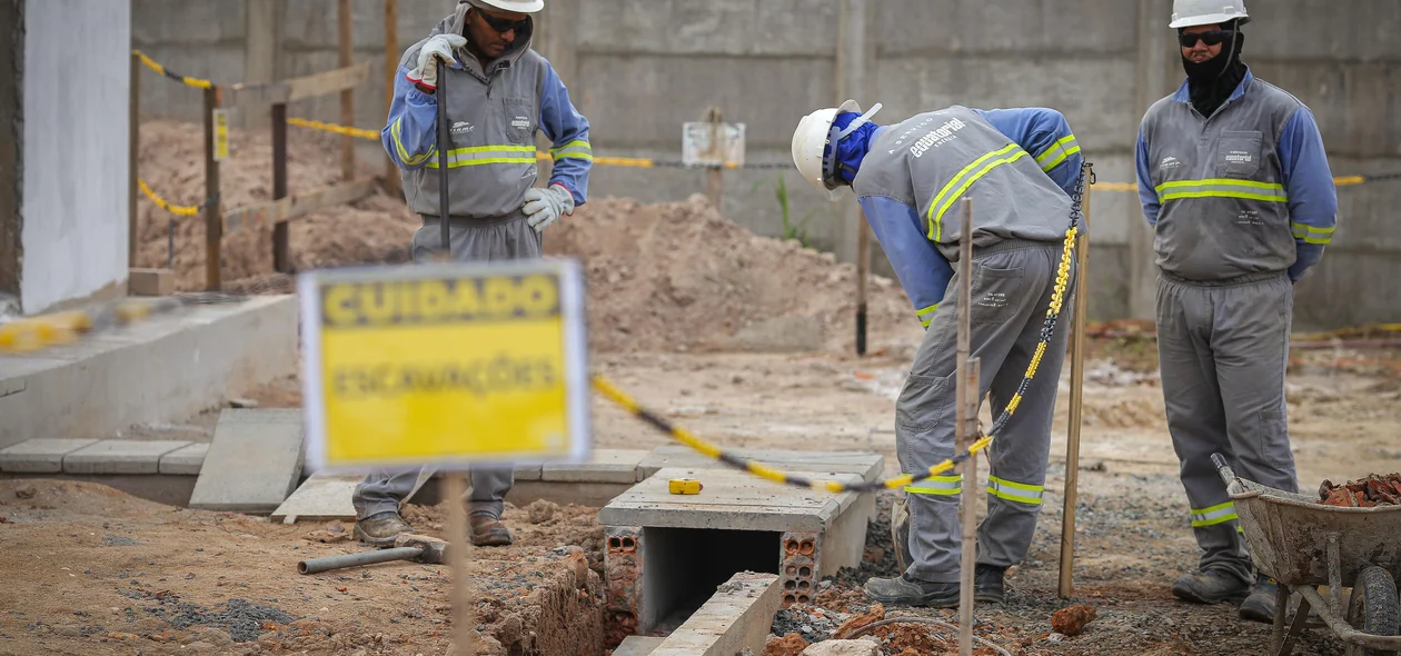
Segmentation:
[[(799, 172), (836, 200), (853, 191), (876, 240), (926, 328), (895, 402), (901, 470), (923, 474), (954, 456), (954, 380), (961, 276), (972, 276), (971, 349), (978, 398), (993, 414), (1016, 397), (1056, 285), (1080, 147), (1054, 109), (950, 107), (877, 126), (855, 101), (806, 116), (793, 133)], [(972, 198), (972, 262), (960, 262), (962, 209)], [(1069, 271), (1073, 280), (1073, 265)], [(1068, 280), (1065, 304), (1072, 303)], [(1066, 331), (1051, 335), (1040, 369), (991, 446), (988, 516), (978, 528), (975, 597), (1000, 601), (1003, 575), (1031, 545), (1051, 447)], [(909, 565), (870, 579), (888, 604), (958, 604), (962, 481), (941, 475), (905, 488)]]

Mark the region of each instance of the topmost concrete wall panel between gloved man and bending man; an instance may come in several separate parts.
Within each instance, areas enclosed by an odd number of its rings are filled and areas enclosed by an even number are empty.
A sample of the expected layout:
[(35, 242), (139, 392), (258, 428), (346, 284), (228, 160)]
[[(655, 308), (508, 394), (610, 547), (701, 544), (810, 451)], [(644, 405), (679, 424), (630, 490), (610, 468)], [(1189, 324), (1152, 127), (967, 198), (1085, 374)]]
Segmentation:
[(829, 57), (838, 39), (838, 0), (581, 0), (579, 49)]

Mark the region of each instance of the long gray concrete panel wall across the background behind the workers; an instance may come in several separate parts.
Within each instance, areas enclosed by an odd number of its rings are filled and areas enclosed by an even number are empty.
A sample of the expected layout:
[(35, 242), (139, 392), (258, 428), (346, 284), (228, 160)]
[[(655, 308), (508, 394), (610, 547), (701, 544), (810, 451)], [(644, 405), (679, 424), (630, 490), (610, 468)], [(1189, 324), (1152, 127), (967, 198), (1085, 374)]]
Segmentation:
[[(335, 0), (132, 0), (133, 41), (172, 69), (219, 81), (298, 76), (336, 66)], [(354, 55), (374, 66), (356, 91), (356, 122), (384, 121), (382, 0), (352, 0)], [(401, 0), (399, 49), (454, 3)], [(1318, 116), (1338, 175), (1401, 171), (1401, 3), (1275, 0), (1251, 6), (1244, 59)], [(595, 153), (679, 160), (681, 123), (719, 107), (748, 126), (751, 163), (787, 163), (808, 111), (846, 97), (884, 104), (878, 121), (953, 102), (1045, 105), (1065, 112), (1101, 182), (1132, 182), (1132, 146), (1147, 105), (1182, 78), (1171, 0), (549, 0), (535, 48), (593, 122)], [(270, 27), (269, 27), (270, 25)], [(147, 76), (146, 80), (154, 80)], [(143, 84), (143, 115), (196, 119), (199, 94)], [(336, 97), (291, 115), (339, 119)], [(244, 119), (256, 121), (256, 116)], [(378, 163), (378, 146), (361, 154)], [(811, 242), (856, 257), (853, 203), (828, 205), (793, 171), (724, 174), (723, 212), (782, 234), (773, 188)], [(591, 196), (678, 199), (705, 174), (598, 167)], [(1324, 264), (1297, 287), (1303, 328), (1401, 321), (1401, 289), (1363, 289), (1401, 264), (1386, 230), (1401, 182), (1339, 189), (1341, 227)], [(1136, 198), (1098, 191), (1090, 313), (1152, 317), (1153, 254)], [(890, 273), (873, 245), (873, 268)]]

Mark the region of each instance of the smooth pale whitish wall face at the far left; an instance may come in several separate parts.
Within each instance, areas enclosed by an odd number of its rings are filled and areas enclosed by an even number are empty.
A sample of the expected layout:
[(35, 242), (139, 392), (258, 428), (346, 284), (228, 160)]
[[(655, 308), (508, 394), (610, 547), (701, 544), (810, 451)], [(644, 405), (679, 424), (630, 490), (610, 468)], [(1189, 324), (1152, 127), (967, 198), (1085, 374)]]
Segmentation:
[(20, 301), (27, 314), (126, 285), (129, 27), (125, 3), (25, 7)]

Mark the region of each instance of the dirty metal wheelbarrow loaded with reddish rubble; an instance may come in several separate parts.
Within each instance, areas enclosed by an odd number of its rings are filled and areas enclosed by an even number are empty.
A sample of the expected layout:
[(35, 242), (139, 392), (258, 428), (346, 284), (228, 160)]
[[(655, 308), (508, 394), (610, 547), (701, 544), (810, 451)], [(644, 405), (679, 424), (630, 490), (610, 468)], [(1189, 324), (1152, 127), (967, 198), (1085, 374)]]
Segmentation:
[[(1236, 475), (1212, 454), (1236, 505), (1250, 558), (1279, 586), (1272, 648), (1285, 656), (1309, 627), (1313, 608), (1348, 656), (1401, 653), (1397, 579), (1401, 578), (1401, 506), (1324, 506)], [(1318, 586), (1328, 586), (1325, 599)], [(1351, 587), (1346, 604), (1342, 589)], [(1290, 592), (1299, 610), (1286, 628)]]

